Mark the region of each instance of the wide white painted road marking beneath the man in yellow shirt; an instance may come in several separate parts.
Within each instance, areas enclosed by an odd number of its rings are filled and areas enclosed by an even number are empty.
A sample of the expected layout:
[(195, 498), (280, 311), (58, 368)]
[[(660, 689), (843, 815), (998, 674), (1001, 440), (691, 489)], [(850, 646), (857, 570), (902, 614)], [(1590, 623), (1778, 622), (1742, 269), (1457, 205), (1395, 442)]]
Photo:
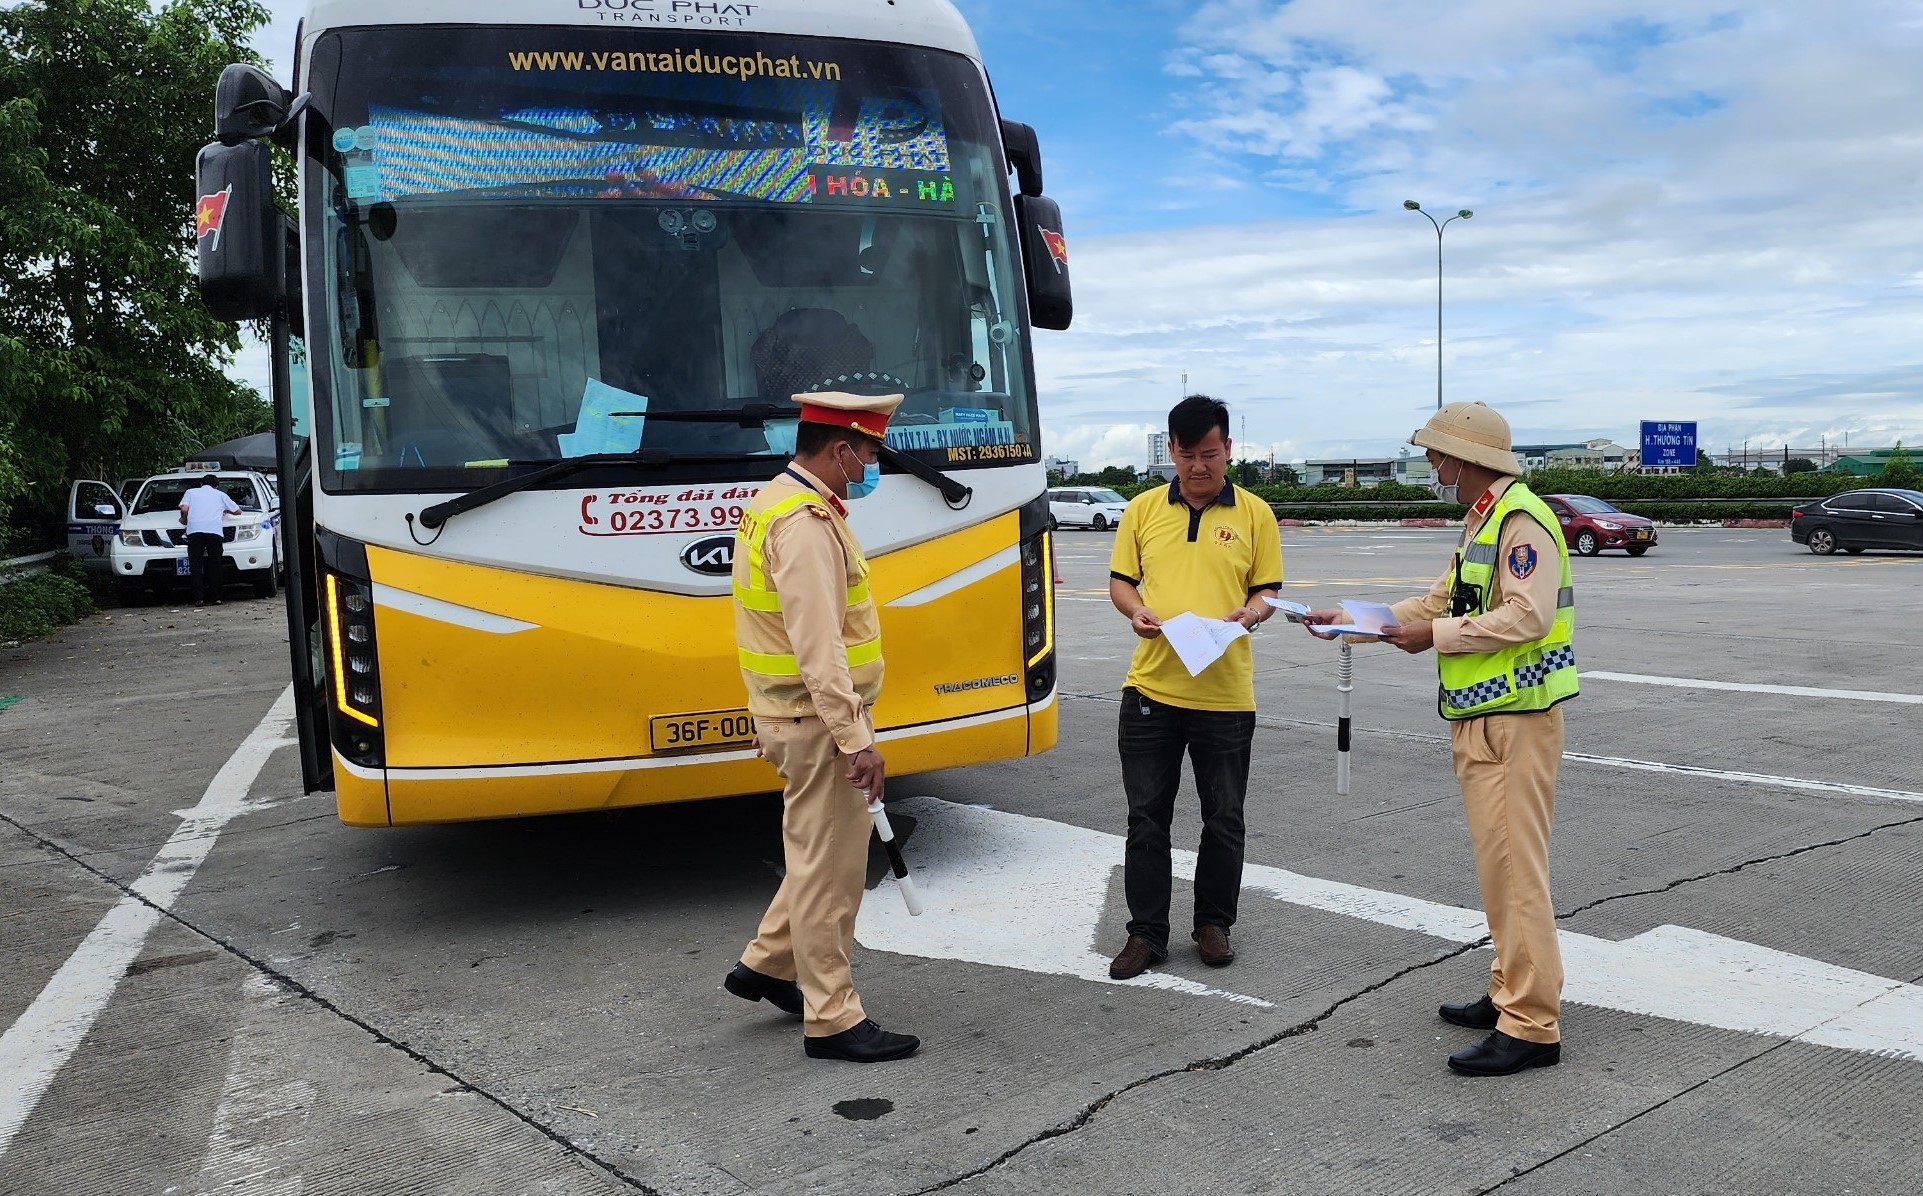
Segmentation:
[[(910, 798), (902, 808), (919, 819), (904, 852), (927, 913), (908, 917), (892, 892), (881, 892), (883, 883), (862, 900), (862, 946), (1269, 1004), (1156, 971), (1108, 979), (1094, 931), (1123, 860), (1119, 835), (935, 798)], [(1175, 875), (1192, 879), (1194, 860), (1194, 852), (1175, 852)], [(1279, 867), (1246, 865), (1242, 886), (1448, 942), (1488, 933), (1477, 909)], [(1571, 1002), (1923, 1061), (1923, 988), (1915, 984), (1686, 927), (1656, 927), (1621, 942), (1571, 931), (1558, 938)]]

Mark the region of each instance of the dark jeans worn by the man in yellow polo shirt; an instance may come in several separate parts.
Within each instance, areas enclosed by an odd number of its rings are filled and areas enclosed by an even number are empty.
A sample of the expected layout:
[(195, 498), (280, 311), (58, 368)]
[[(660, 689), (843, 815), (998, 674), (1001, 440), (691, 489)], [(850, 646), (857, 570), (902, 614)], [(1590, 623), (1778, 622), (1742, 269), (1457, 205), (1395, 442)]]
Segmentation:
[(1252, 710), (1185, 710), (1121, 690), (1121, 786), (1129, 794), (1129, 850), (1123, 888), (1129, 933), (1169, 948), (1169, 819), (1183, 783), (1183, 752), (1202, 796), (1196, 860), (1196, 929), (1235, 925), (1242, 894), (1242, 798), (1256, 738)]

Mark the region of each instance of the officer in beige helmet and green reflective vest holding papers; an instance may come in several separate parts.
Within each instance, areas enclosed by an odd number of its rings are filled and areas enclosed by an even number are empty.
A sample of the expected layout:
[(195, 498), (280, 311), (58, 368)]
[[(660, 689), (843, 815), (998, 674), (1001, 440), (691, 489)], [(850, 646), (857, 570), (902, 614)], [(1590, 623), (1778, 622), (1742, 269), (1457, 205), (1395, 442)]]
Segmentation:
[[(1488, 934), (1488, 992), (1446, 1004), (1444, 1021), (1490, 1031), (1448, 1058), (1463, 1075), (1513, 1075), (1561, 1059), (1561, 952), (1550, 904), (1550, 821), (1563, 750), (1561, 702), (1577, 694), (1569, 548), (1548, 506), (1517, 479), (1510, 425), (1450, 404), (1410, 436), (1429, 450), (1438, 492), (1475, 496), (1446, 573), (1394, 604), (1383, 638), (1436, 650), (1436, 706), (1450, 721), (1456, 777), (1475, 848)], [(1308, 621), (1336, 623), (1340, 611)]]

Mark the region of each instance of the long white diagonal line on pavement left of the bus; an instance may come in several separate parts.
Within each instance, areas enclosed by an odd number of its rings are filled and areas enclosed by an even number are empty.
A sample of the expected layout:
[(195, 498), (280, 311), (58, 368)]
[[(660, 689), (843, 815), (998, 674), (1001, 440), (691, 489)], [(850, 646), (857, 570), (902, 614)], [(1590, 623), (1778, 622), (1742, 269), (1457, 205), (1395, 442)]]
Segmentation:
[(33, 1004), (0, 1034), (0, 1156), (33, 1113), (60, 1069), (79, 1050), (100, 1009), (106, 1008), (127, 965), (140, 956), (160, 909), (173, 906), (194, 871), (213, 850), (221, 827), (256, 810), (246, 790), (294, 719), (294, 686), (281, 690), (267, 715), (213, 773), (200, 804), (175, 811), (183, 821), (131, 888), (146, 898), (121, 898), (100, 925), (60, 965)]

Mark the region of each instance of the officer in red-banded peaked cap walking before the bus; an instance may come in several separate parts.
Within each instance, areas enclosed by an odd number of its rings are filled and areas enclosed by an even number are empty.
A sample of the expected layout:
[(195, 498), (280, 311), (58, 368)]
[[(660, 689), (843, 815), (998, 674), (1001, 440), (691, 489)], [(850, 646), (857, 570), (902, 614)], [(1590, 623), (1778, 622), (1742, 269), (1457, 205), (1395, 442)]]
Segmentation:
[(781, 775), (787, 873), (723, 986), (802, 1015), (817, 1059), (877, 1063), (921, 1046), (862, 1009), (848, 975), (854, 915), (883, 796), (869, 708), (881, 694), (881, 619), (844, 500), (881, 479), (900, 394), (798, 394), (794, 460), (735, 531), (735, 644), (762, 754)]

